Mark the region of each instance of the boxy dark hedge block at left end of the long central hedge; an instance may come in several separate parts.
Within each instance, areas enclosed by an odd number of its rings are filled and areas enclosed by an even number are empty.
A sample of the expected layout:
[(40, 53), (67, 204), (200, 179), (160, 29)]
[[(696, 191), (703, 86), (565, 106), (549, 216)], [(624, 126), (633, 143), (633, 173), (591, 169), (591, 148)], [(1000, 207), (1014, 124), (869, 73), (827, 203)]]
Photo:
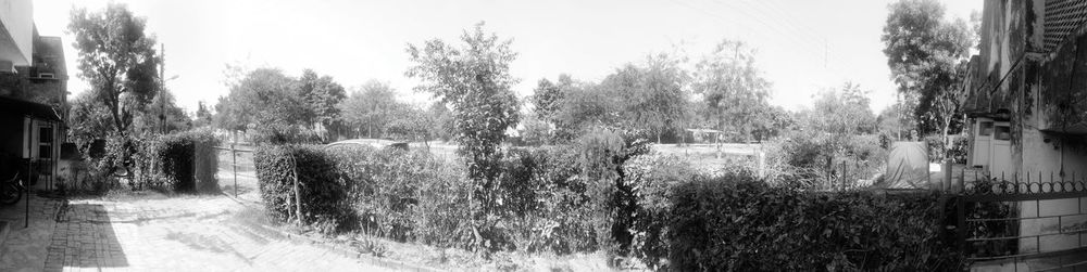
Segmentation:
[(253, 153), (253, 164), (270, 218), (280, 222), (298, 219), (297, 180), (302, 223), (320, 219), (338, 228), (351, 226), (353, 212), (347, 202), (347, 185), (336, 170), (335, 158), (323, 147), (260, 145)]

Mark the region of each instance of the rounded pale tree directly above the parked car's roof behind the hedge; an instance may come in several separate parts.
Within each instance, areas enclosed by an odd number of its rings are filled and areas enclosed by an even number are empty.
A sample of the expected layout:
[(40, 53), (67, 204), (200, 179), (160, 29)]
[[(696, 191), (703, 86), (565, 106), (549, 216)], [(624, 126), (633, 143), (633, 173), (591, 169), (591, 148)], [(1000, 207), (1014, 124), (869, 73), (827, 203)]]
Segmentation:
[(366, 132), (366, 138), (384, 137), (386, 126), (402, 106), (397, 102), (396, 91), (377, 80), (370, 80), (360, 89), (336, 106), (340, 120), (360, 134)]

